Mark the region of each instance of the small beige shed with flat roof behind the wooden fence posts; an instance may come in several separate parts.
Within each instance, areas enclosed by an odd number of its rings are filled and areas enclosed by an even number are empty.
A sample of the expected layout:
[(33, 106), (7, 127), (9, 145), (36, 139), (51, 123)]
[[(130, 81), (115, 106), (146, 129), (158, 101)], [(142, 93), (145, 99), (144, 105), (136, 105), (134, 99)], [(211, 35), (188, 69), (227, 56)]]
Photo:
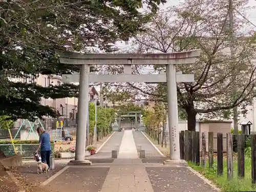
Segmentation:
[(217, 133), (223, 134), (223, 152), (226, 152), (226, 134), (231, 131), (232, 121), (199, 121), (199, 132), (200, 132), (200, 151), (201, 151), (201, 136), (202, 132), (205, 132), (206, 137), (206, 152), (208, 152), (208, 133), (214, 132), (214, 152), (217, 152)]

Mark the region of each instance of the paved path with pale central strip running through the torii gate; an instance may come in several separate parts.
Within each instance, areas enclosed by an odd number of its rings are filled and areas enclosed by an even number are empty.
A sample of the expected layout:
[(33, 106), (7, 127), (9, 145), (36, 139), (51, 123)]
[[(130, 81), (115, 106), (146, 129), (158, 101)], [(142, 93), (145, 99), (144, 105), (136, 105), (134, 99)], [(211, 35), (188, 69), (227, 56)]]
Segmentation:
[[(111, 159), (116, 144), (120, 146), (118, 158)], [(146, 159), (152, 161), (138, 158), (137, 144), (142, 145)], [(157, 153), (140, 132), (116, 132), (91, 157), (91, 166), (67, 166), (45, 182), (44, 187), (56, 192), (218, 191), (184, 165), (163, 165), (164, 159)]]

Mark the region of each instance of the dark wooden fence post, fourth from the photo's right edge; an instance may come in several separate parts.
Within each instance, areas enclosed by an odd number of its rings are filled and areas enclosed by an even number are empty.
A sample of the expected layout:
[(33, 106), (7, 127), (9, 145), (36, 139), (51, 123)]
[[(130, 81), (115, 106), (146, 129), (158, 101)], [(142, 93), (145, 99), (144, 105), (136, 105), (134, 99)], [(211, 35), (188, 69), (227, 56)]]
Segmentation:
[(217, 133), (217, 172), (218, 176), (223, 175), (223, 135)]

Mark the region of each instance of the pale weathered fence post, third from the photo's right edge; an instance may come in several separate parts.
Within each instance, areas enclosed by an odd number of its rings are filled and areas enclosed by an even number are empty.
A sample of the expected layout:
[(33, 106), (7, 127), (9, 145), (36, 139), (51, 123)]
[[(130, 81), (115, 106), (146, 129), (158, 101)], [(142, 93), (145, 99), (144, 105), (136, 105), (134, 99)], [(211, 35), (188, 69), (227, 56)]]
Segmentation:
[(227, 180), (233, 179), (233, 136), (227, 133)]

